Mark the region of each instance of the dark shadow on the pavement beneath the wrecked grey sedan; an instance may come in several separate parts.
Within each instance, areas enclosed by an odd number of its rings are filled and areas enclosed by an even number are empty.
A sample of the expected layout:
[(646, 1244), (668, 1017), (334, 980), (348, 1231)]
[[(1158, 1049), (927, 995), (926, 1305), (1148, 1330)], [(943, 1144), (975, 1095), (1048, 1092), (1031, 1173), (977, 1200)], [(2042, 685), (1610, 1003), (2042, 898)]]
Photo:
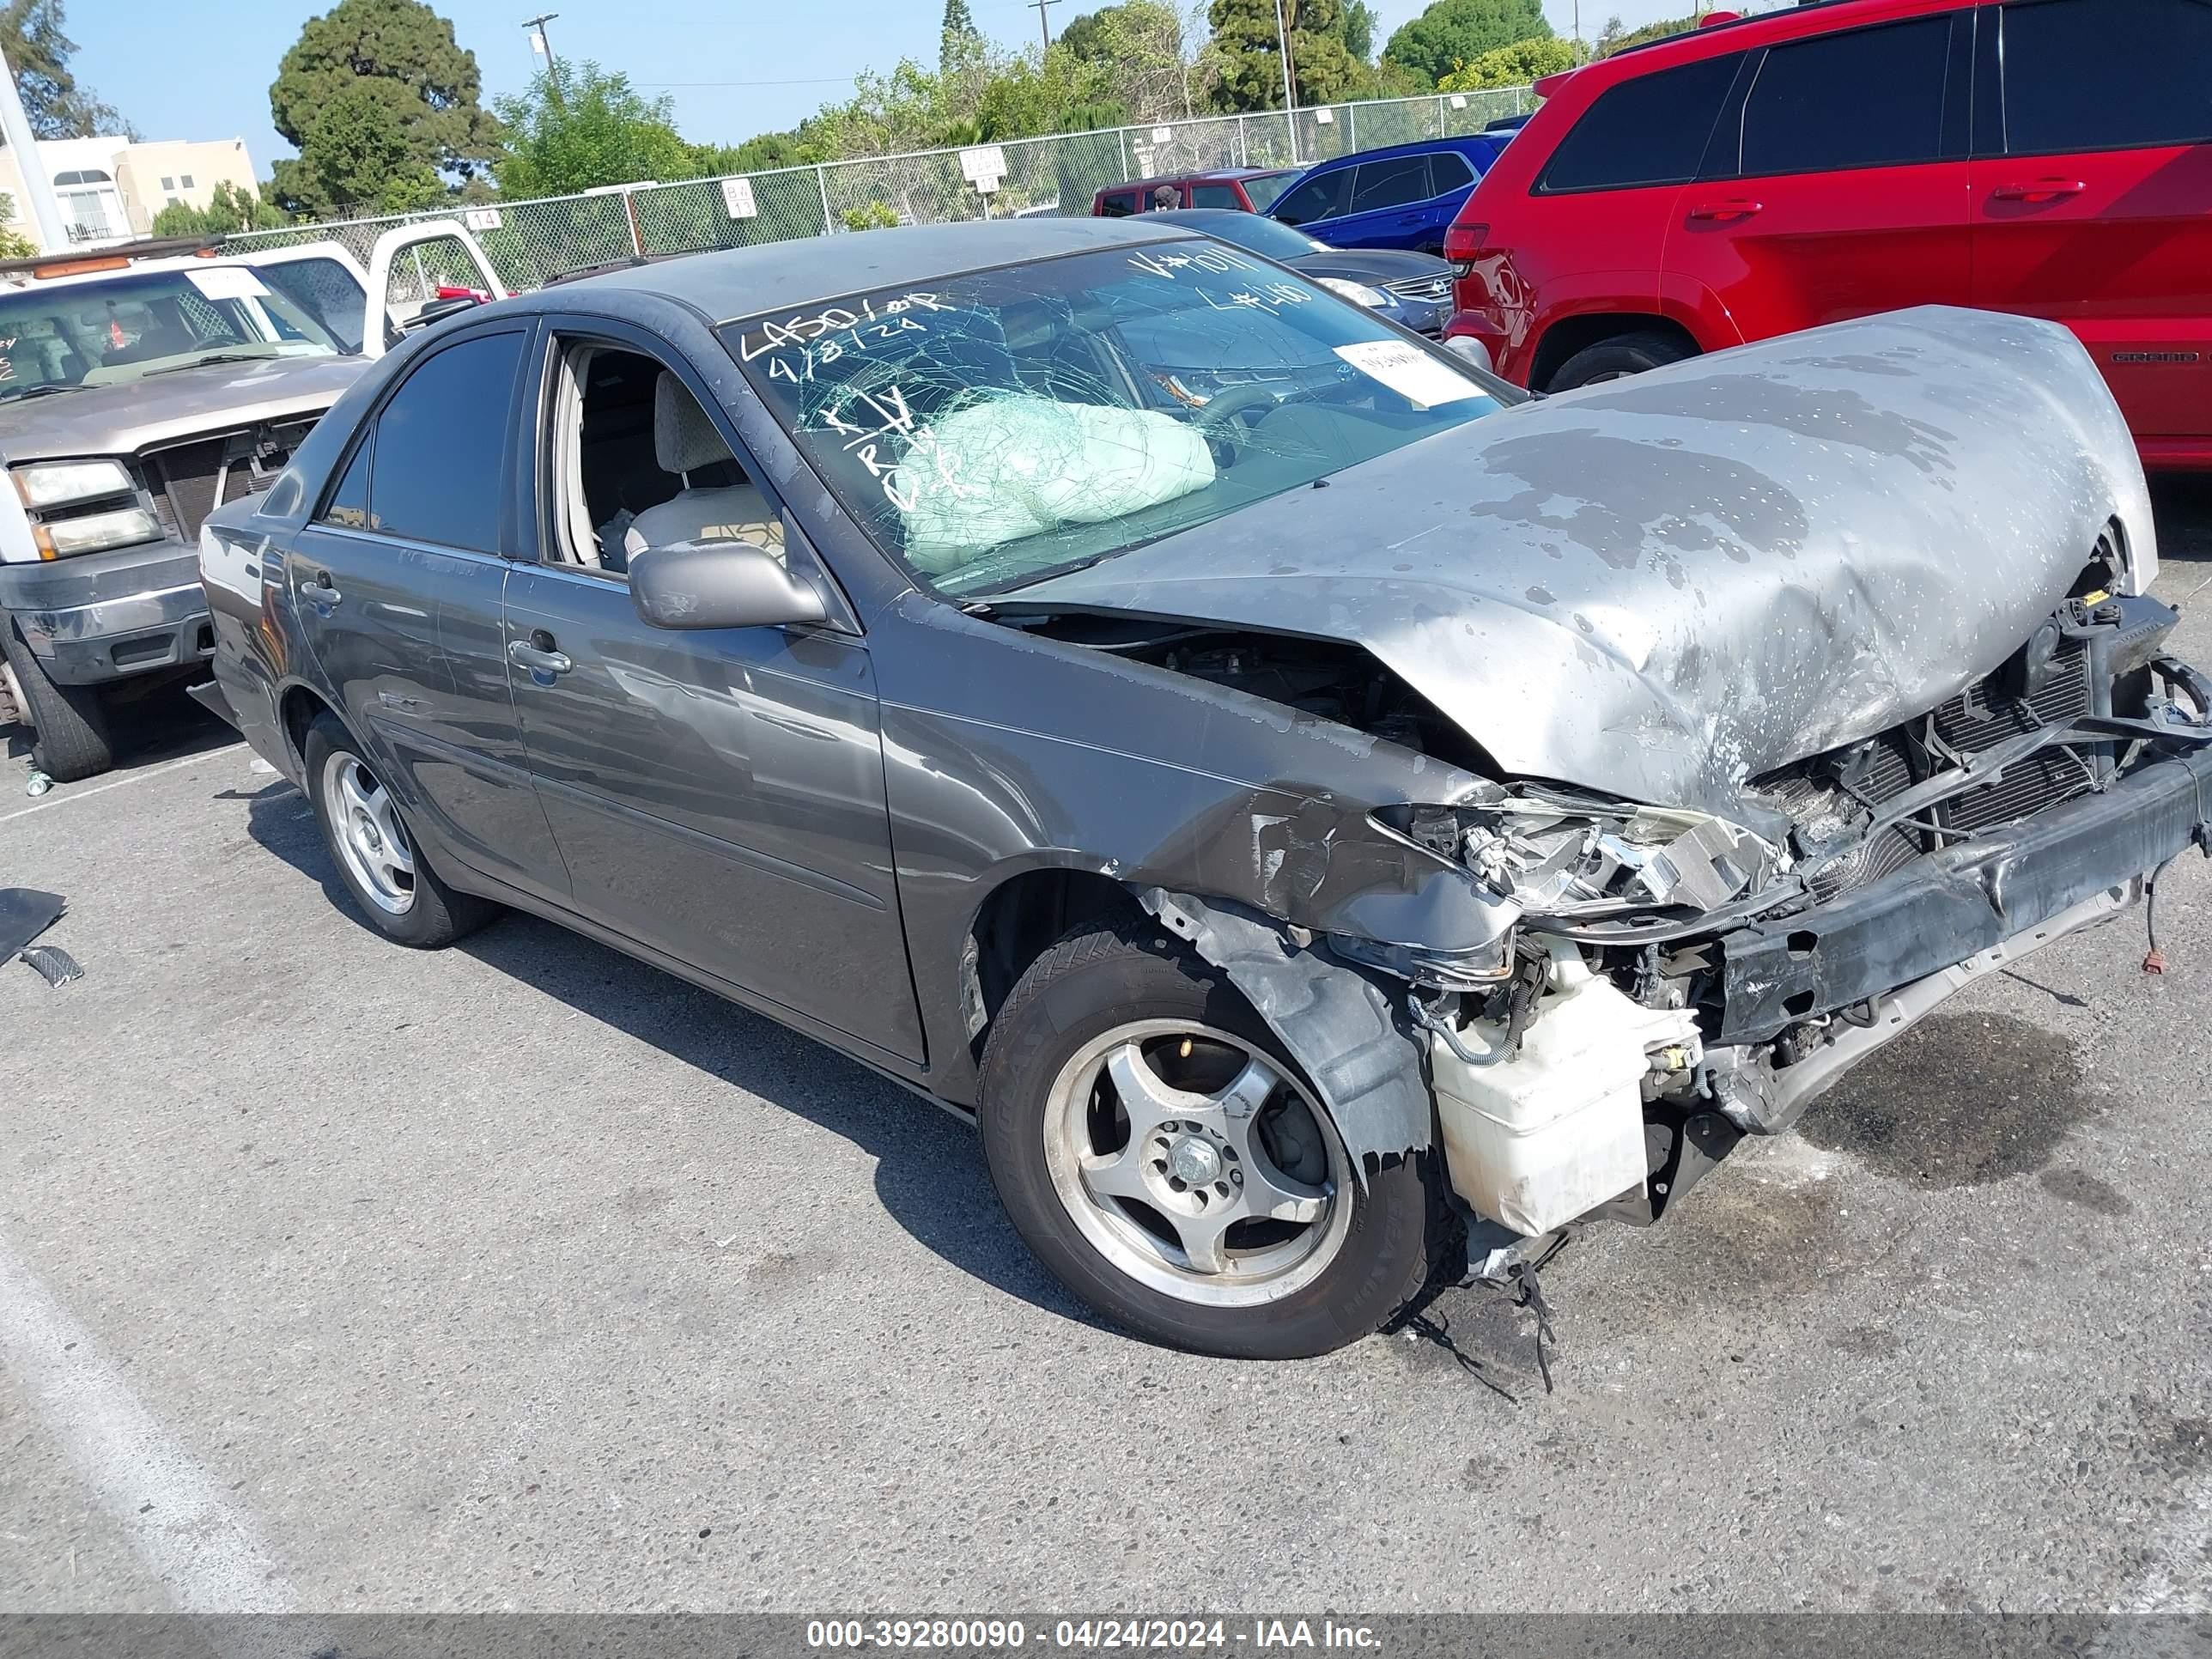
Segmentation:
[[(248, 796), (248, 834), (367, 927), (290, 783)], [(400, 947), (392, 947), (398, 951)], [(1037, 1265), (1000, 1210), (975, 1130), (867, 1066), (672, 973), (509, 914), (453, 949), (672, 1060), (843, 1135), (876, 1161), (876, 1197), (920, 1245), (993, 1290), (1106, 1329)]]

